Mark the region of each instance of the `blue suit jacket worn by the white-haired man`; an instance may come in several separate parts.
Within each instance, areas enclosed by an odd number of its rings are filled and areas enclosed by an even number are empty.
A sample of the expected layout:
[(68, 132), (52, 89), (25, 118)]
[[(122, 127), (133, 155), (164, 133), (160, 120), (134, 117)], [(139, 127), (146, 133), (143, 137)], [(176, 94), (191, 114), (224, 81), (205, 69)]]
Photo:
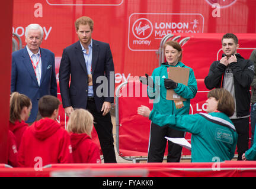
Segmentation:
[(46, 48), (39, 49), (41, 54), (40, 86), (37, 83), (27, 48), (12, 53), (11, 92), (25, 94), (31, 99), (32, 109), (28, 123), (36, 120), (40, 97), (47, 94), (57, 97), (55, 55)]

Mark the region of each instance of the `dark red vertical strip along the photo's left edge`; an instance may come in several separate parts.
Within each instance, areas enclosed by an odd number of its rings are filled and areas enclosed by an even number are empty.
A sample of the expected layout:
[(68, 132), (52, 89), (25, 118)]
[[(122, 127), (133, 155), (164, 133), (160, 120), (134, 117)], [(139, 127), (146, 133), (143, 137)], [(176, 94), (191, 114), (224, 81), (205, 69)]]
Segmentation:
[(7, 163), (7, 136), (9, 128), (9, 94), (11, 89), (11, 27), (12, 27), (12, 5), (13, 1), (2, 2), (0, 20), (3, 27), (0, 30), (1, 36), (1, 126), (0, 126), (0, 163)]

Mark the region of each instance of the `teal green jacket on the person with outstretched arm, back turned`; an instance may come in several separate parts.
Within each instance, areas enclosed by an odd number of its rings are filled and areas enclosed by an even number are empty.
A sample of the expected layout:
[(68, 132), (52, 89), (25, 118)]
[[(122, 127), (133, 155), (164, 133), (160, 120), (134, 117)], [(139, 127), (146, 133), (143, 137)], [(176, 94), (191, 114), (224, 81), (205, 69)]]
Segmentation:
[(177, 130), (192, 133), (191, 162), (231, 160), (235, 154), (238, 135), (231, 119), (224, 113), (175, 116), (160, 114), (153, 109), (149, 119), (159, 126), (168, 125)]

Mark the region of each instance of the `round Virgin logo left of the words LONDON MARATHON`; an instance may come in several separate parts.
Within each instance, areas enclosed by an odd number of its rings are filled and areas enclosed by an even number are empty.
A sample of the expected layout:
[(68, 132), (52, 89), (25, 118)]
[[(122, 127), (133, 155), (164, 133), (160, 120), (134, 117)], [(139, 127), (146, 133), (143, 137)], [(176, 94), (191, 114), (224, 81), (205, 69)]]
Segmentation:
[(139, 40), (145, 40), (151, 36), (153, 32), (153, 25), (149, 19), (140, 18), (133, 23), (132, 32)]

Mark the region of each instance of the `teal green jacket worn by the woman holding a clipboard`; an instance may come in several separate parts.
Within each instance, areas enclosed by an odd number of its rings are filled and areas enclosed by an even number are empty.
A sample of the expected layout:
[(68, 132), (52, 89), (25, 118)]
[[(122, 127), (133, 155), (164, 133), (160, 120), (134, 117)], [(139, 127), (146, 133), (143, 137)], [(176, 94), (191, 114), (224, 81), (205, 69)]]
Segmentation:
[(182, 83), (178, 83), (175, 93), (187, 99), (184, 101), (184, 107), (181, 109), (176, 109), (173, 100), (167, 100), (167, 89), (164, 86), (164, 79), (168, 78), (167, 68), (173, 67), (167, 63), (163, 63), (160, 67), (153, 70), (152, 79), (155, 83), (155, 87), (148, 87), (148, 96), (153, 100), (153, 109), (158, 110), (160, 113), (165, 113), (167, 115), (183, 115), (188, 114), (190, 110), (190, 99), (196, 96), (197, 93), (197, 82), (194, 76), (194, 71), (190, 67), (185, 66), (183, 63), (178, 62), (175, 67), (187, 67), (190, 69), (188, 77), (188, 85), (185, 86)]

